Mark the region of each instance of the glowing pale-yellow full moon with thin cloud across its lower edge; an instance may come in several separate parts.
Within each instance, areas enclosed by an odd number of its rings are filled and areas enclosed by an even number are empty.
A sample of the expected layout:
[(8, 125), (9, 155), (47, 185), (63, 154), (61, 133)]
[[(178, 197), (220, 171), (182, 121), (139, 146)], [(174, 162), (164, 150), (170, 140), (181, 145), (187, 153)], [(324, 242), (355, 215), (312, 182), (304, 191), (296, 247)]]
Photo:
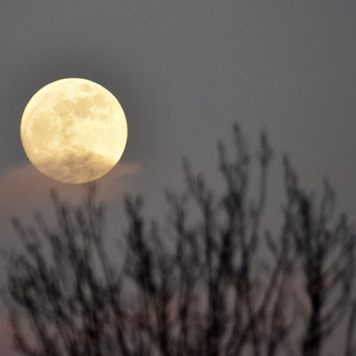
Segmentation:
[(119, 161), (126, 140), (120, 103), (91, 80), (66, 78), (44, 86), (22, 115), (21, 141), (28, 159), (63, 183), (103, 177)]

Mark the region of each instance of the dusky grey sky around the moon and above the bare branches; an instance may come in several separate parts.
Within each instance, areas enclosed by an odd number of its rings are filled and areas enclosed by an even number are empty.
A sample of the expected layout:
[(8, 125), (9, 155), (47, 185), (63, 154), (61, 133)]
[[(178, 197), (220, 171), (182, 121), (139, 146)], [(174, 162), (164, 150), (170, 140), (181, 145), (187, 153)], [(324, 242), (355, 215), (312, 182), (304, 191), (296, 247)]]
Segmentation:
[(122, 165), (99, 180), (112, 207), (137, 192), (162, 209), (184, 155), (217, 184), (216, 142), (239, 122), (251, 150), (264, 129), (275, 152), (268, 216), (288, 153), (310, 191), (330, 179), (355, 221), (355, 19), (356, 2), (340, 0), (1, 1), (1, 248), (16, 245), (10, 216), (26, 219), (59, 187), (28, 163), (20, 122), (34, 93), (69, 77), (103, 85), (127, 116)]

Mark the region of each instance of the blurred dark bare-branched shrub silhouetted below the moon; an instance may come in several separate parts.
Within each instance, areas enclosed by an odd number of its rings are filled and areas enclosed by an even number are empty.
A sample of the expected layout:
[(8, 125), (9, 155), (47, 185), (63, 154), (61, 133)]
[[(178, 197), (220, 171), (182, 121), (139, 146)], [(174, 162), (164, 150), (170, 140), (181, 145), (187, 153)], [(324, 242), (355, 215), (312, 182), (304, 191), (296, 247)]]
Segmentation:
[(233, 160), (219, 144), (224, 192), (211, 190), (184, 160), (186, 189), (166, 193), (169, 226), (147, 221), (140, 197), (125, 198), (126, 250), (117, 253), (118, 265), (105, 252), (95, 184), (80, 206), (51, 193), (55, 227), (40, 214), (33, 228), (14, 219), (24, 249), (9, 258), (7, 289), (18, 350), (318, 356), (345, 323), (340, 355), (354, 355), (355, 234), (346, 216), (333, 223), (333, 190), (325, 183), (317, 209), (286, 158), (283, 226), (278, 234), (262, 231), (271, 147), (262, 134), (253, 200), (252, 156), (238, 125), (233, 132)]

